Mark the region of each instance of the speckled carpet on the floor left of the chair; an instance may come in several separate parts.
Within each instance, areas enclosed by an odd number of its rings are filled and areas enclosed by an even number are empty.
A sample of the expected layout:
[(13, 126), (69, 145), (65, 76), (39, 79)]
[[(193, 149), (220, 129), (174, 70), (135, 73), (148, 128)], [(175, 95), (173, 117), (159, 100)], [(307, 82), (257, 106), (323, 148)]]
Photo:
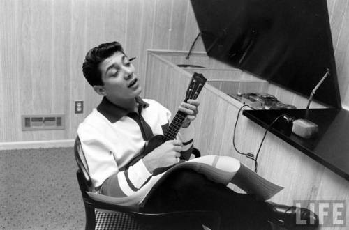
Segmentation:
[(73, 148), (0, 151), (0, 229), (84, 229)]

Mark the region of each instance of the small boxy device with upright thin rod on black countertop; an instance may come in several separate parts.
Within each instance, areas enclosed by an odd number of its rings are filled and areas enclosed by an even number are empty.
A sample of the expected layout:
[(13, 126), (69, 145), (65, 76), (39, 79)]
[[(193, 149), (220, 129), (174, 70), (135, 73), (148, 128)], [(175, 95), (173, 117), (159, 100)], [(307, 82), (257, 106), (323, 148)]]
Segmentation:
[(311, 91), (308, 105), (306, 106), (306, 113), (304, 115), (304, 118), (300, 118), (293, 121), (292, 132), (295, 133), (295, 135), (309, 139), (309, 138), (315, 137), (315, 135), (318, 133), (319, 126), (308, 120), (309, 107), (310, 107), (311, 100), (313, 99), (313, 95), (315, 95), (316, 90), (320, 87), (320, 85), (322, 84), (322, 82), (324, 82), (325, 78), (328, 75), (329, 75), (329, 69), (327, 69), (325, 75), (322, 77), (322, 79), (320, 79), (320, 82), (315, 86), (313, 91)]

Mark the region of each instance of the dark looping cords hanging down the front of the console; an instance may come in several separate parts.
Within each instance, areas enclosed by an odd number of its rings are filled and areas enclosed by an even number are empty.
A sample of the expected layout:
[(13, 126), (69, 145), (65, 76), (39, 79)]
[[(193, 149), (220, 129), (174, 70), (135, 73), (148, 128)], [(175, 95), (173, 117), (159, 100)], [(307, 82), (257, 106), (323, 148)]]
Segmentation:
[(267, 136), (267, 132), (270, 130), (270, 128), (272, 128), (272, 125), (274, 125), (274, 123), (276, 123), (276, 121), (278, 121), (281, 117), (283, 118), (286, 118), (286, 119), (290, 119), (287, 115), (285, 114), (281, 114), (279, 116), (277, 116), (274, 121), (272, 121), (272, 123), (270, 123), (267, 127), (267, 129), (265, 130), (265, 133), (263, 135), (263, 138), (262, 138), (262, 141), (260, 141), (260, 146), (258, 147), (258, 151), (257, 153), (254, 155), (253, 153), (242, 153), (241, 151), (239, 151), (235, 145), (235, 132), (236, 132), (236, 128), (237, 128), (237, 121), (239, 121), (239, 116), (240, 116), (240, 113), (242, 111), (242, 109), (244, 107), (248, 107), (248, 105), (243, 105), (242, 107), (240, 107), (239, 109), (239, 112), (237, 112), (237, 119), (235, 121), (235, 125), (234, 125), (234, 132), (233, 132), (233, 135), (232, 135), (232, 145), (234, 146), (235, 148), (235, 151), (237, 151), (237, 153), (241, 154), (241, 155), (244, 155), (246, 158), (248, 159), (251, 159), (255, 162), (255, 173), (257, 173), (258, 171), (258, 155), (260, 154), (260, 149), (262, 148), (262, 144), (265, 140), (265, 137)]

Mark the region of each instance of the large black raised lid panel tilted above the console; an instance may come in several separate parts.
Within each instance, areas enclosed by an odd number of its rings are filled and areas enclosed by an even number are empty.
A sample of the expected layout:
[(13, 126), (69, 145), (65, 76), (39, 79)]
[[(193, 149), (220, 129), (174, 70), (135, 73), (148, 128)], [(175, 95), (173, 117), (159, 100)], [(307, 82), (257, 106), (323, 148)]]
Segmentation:
[(325, 0), (191, 0), (206, 52), (225, 63), (341, 107)]

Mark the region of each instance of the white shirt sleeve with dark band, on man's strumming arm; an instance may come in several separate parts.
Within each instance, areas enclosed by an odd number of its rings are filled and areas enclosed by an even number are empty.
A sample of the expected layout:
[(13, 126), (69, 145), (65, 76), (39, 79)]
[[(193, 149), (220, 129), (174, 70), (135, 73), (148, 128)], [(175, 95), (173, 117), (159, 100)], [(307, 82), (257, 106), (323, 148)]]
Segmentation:
[(142, 160), (126, 170), (119, 169), (111, 145), (97, 130), (90, 130), (82, 125), (77, 133), (86, 158), (85, 167), (97, 190), (107, 178), (113, 176), (115, 194), (125, 197), (138, 191), (151, 178), (152, 174), (149, 173)]

